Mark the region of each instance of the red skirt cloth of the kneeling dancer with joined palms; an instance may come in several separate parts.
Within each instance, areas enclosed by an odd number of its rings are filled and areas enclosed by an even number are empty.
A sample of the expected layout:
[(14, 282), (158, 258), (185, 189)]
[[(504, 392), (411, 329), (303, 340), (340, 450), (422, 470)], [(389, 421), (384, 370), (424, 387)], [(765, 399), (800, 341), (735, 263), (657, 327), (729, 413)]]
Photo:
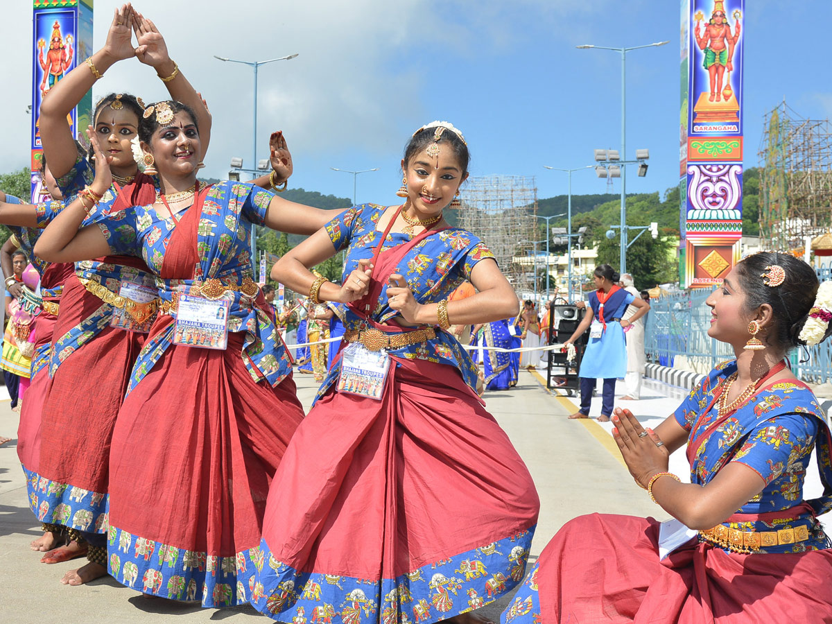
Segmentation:
[(740, 555), (694, 541), (660, 561), (659, 524), (597, 513), (567, 522), (537, 562), (541, 621), (832, 622), (832, 550)]

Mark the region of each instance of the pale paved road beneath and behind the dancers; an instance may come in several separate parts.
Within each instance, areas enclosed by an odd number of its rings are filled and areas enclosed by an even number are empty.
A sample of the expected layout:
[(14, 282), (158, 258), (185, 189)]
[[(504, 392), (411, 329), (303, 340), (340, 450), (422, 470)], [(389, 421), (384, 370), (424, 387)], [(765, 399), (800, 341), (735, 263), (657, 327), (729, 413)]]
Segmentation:
[[(300, 399), (309, 406), (314, 381), (296, 375)], [(534, 374), (523, 371), (515, 389), (486, 396), (488, 409), (512, 439), (532, 473), (541, 498), (540, 522), (532, 544), (532, 561), (567, 520), (582, 513), (630, 513), (664, 518), (633, 483), (609, 435), (591, 420), (567, 420), (574, 406), (547, 393)], [(13, 435), (17, 414), (0, 401), (0, 435)], [(67, 435), (71, 435), (67, 432)], [(82, 587), (58, 580), (77, 562), (47, 566), (28, 543), (39, 534), (29, 512), (15, 442), (0, 447), (0, 622), (254, 622), (250, 607), (201, 609), (146, 598), (109, 577)], [(508, 597), (488, 612), (495, 619)], [(266, 622), (266, 620), (262, 620)]]

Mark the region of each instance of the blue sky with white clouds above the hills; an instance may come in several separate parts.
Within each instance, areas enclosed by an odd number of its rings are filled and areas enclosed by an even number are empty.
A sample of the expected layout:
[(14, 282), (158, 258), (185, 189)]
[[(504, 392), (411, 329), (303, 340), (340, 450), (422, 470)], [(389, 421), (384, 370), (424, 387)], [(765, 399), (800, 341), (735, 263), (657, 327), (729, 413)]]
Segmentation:
[[(259, 157), (282, 129), (295, 157), (290, 186), (394, 203), (404, 144), (418, 126), (452, 121), (468, 139), (472, 175), (535, 176), (539, 197), (566, 192), (566, 175), (543, 165), (592, 163), (595, 147), (620, 146), (621, 61), (615, 52), (576, 45), (664, 47), (628, 54), (627, 145), (651, 151), (645, 178), (631, 192), (666, 191), (678, 181), (678, 0), (307, 0), (184, 2), (146, 0), (136, 7), (166, 36), (183, 72), (214, 116), (206, 175), (225, 177), (231, 156), (250, 166), (252, 72), (213, 55), (264, 60), (260, 68)], [(700, 3), (697, 3), (699, 6)], [(745, 166), (755, 166), (762, 119), (785, 97), (803, 116), (832, 115), (825, 60), (832, 8), (827, 0), (747, 0)], [(31, 49), (30, 0), (4, 2), (7, 50)], [(95, 0), (94, 47), (102, 45), (116, 2)], [(228, 10), (235, 7), (234, 12)], [(710, 12), (712, 3), (701, 2)], [(14, 55), (17, 58), (17, 53)], [(28, 161), (26, 106), (31, 67), (3, 63), (0, 171)], [(149, 67), (122, 62), (97, 83), (94, 97), (128, 91), (165, 97)], [(618, 181), (614, 191), (619, 191)], [(606, 191), (592, 171), (574, 174), (576, 193)]]

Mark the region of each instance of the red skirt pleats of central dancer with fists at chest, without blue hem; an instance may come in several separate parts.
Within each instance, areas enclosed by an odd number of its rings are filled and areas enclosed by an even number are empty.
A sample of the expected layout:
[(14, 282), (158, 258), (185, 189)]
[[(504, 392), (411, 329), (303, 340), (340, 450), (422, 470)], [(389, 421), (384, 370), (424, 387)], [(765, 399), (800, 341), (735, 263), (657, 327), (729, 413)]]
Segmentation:
[(278, 561), (394, 579), (537, 521), (525, 464), (461, 376), (399, 364), (381, 401), (330, 390), (301, 423), (263, 527)]

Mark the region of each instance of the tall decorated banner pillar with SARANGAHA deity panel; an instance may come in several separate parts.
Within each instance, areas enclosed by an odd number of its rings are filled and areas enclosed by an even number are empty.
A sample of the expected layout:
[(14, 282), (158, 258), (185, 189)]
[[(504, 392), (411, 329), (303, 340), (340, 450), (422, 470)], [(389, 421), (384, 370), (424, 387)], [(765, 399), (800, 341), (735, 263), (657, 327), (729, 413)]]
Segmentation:
[(684, 285), (691, 288), (721, 284), (740, 260), (744, 2), (682, 1), (688, 32)]

